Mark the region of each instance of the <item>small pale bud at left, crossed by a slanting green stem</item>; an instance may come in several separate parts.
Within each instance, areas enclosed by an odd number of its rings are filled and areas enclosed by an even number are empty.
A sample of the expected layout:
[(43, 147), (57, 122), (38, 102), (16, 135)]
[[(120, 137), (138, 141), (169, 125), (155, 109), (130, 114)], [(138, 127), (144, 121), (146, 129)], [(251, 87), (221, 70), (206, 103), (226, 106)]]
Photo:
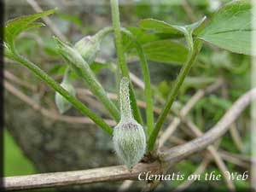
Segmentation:
[[(70, 80), (68, 79), (67, 76), (68, 76), (68, 72), (66, 71), (64, 75), (64, 79), (61, 82), (61, 87), (67, 90), (67, 92), (69, 92), (72, 96), (75, 96), (76, 91), (73, 85), (70, 83)], [(55, 104), (61, 114), (67, 112), (67, 110), (72, 107), (72, 104), (68, 102), (67, 99), (61, 96), (61, 94), (59, 94), (58, 92), (55, 92)]]

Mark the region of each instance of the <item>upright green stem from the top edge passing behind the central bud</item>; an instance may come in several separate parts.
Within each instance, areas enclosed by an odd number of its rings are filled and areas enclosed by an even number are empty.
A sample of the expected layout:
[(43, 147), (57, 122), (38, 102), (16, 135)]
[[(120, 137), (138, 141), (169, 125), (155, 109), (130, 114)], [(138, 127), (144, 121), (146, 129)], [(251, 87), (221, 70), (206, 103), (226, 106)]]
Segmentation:
[[(121, 34), (120, 21), (119, 21), (118, 0), (111, 0), (111, 10), (112, 10), (115, 47), (116, 47), (116, 52), (118, 55), (119, 67), (120, 67), (120, 70), (121, 70), (123, 76), (130, 79), (129, 69), (128, 69), (127, 63), (125, 61), (125, 52), (123, 49), (123, 41), (122, 41), (122, 34)], [(137, 107), (137, 100), (136, 100), (131, 82), (130, 82), (130, 97), (131, 97), (131, 108), (133, 111), (134, 118), (137, 120), (138, 123), (143, 124), (142, 115), (140, 113), (139, 108)]]

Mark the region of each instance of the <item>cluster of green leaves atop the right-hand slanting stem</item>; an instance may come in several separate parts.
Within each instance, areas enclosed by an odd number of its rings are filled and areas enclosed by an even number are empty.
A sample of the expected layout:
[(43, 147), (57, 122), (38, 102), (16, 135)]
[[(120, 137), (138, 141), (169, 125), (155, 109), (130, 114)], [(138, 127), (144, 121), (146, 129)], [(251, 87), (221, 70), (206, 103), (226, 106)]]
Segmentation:
[[(214, 44), (222, 49), (245, 55), (252, 53), (252, 5), (247, 0), (228, 3), (214, 15), (212, 21), (206, 26), (205, 18), (187, 26), (175, 26), (162, 20), (141, 20), (139, 26), (144, 32), (140, 32), (138, 38), (157, 37), (158, 34), (166, 34), (169, 38), (182, 38), (184, 35), (193, 35), (196, 38)], [(144, 35), (143, 35), (144, 33)], [(161, 40), (143, 44), (148, 60), (162, 63), (183, 64), (186, 49), (183, 45), (172, 40)], [(179, 58), (177, 60), (177, 57)]]

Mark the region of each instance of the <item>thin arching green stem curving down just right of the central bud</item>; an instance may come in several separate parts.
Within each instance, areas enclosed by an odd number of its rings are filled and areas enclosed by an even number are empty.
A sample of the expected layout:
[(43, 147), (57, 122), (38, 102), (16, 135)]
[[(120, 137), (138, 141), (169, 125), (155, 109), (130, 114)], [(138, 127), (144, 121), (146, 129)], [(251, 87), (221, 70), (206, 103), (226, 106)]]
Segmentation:
[(132, 42), (135, 44), (137, 49), (137, 55), (140, 58), (142, 68), (143, 68), (143, 79), (145, 82), (145, 96), (146, 96), (146, 113), (147, 113), (147, 125), (148, 125), (148, 137), (154, 128), (154, 112), (153, 112), (153, 100), (152, 100), (152, 90), (150, 84), (150, 75), (148, 70), (148, 62), (144, 55), (143, 48), (141, 44), (138, 43), (137, 38), (128, 30), (122, 28), (122, 32), (124, 32), (129, 38), (131, 38)]

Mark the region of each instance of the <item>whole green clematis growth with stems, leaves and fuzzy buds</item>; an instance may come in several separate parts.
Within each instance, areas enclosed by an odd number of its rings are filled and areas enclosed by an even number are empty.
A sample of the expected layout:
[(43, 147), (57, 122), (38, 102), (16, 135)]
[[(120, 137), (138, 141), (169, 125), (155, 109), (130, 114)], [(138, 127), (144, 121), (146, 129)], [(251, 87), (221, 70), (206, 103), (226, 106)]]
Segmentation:
[[(150, 154), (153, 154), (152, 152), (156, 149), (155, 142), (160, 129), (163, 127), (184, 79), (195, 64), (196, 57), (199, 55), (204, 42), (238, 54), (255, 55), (255, 52), (251, 49), (251, 39), (248, 38), (251, 37), (253, 32), (250, 25), (253, 21), (251, 18), (252, 4), (247, 0), (228, 3), (218, 10), (212, 20), (203, 17), (189, 25), (177, 26), (150, 18), (141, 20), (138, 27), (129, 30), (120, 25), (118, 0), (111, 0), (110, 4), (113, 26), (102, 29), (94, 36), (85, 36), (74, 45), (64, 43), (59, 38), (54, 38), (54, 41), (56, 49), (66, 61), (69, 70), (76, 73), (79, 78), (84, 79), (84, 83), (87, 84), (97, 100), (102, 103), (102, 106), (108, 110), (110, 116), (117, 122), (114, 128), (76, 98), (68, 74), (65, 74), (62, 83), (59, 84), (48, 73), (20, 55), (18, 50), (15, 49), (15, 39), (21, 32), (44, 26), (43, 23), (35, 22), (35, 20), (53, 14), (56, 9), (10, 20), (4, 28), (3, 48), (6, 57), (26, 67), (55, 90), (55, 102), (61, 113), (65, 113), (68, 108), (73, 106), (94, 121), (109, 136), (113, 137), (116, 154), (131, 169), (142, 160), (144, 154), (148, 154), (150, 157)], [(91, 69), (96, 55), (101, 50), (102, 38), (109, 33), (114, 35), (118, 59), (115, 73), (117, 84), (120, 84), (120, 91), (117, 93), (120, 100), (120, 110), (108, 98), (102, 84)], [(166, 35), (162, 36), (160, 34)], [(186, 44), (177, 44), (177, 41), (174, 41), (181, 38), (184, 39), (183, 42), (186, 42)], [(163, 49), (161, 49), (163, 47), (165, 53), (168, 52), (169, 54), (167, 59), (162, 56), (164, 55), (162, 53)], [(155, 50), (154, 54), (152, 54), (152, 49)], [(125, 60), (127, 52), (137, 55), (141, 62), (145, 85), (143, 91), (147, 103), (145, 119), (142, 118), (137, 105), (135, 90), (133, 84), (131, 84), (130, 72)], [(155, 122), (147, 58), (151, 61), (172, 62), (182, 65), (166, 104)]]

